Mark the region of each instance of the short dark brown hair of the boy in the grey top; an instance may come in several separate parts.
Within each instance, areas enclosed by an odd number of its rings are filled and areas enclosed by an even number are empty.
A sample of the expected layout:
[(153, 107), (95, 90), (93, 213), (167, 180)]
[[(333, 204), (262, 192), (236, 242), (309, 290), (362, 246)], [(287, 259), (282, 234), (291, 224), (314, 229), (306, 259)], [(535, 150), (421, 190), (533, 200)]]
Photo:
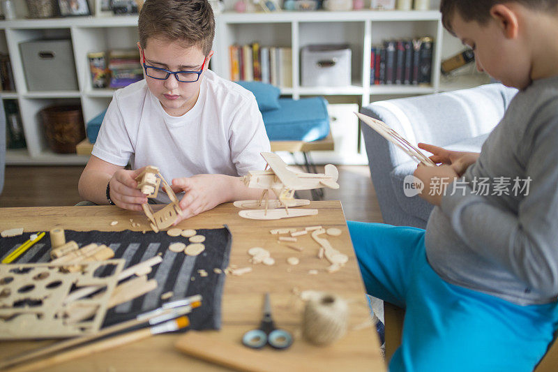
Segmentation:
[(486, 24), (490, 19), (490, 8), (499, 3), (520, 3), (526, 8), (543, 11), (558, 8), (558, 0), (442, 0), (440, 1), (442, 24), (448, 31), (453, 32), (451, 19), (455, 10), (465, 22), (476, 21), (479, 24)]

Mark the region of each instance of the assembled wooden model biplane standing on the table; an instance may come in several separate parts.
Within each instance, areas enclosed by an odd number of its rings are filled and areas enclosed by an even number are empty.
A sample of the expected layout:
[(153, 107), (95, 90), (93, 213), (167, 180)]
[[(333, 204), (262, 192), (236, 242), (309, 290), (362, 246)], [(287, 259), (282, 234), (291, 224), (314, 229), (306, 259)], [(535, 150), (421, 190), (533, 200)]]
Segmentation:
[[(249, 188), (264, 189), (262, 196), (259, 200), (234, 202), (235, 207), (246, 208), (239, 211), (239, 216), (243, 218), (277, 220), (312, 216), (318, 213), (317, 209), (289, 209), (310, 204), (310, 200), (294, 199), (294, 192), (321, 187), (339, 188), (339, 172), (335, 165), (326, 165), (324, 174), (305, 173), (289, 168), (278, 155), (271, 152), (262, 152), (262, 156), (267, 162), (266, 170), (250, 171), (244, 177), (244, 183)], [(277, 200), (269, 200), (270, 190), (277, 195)]]

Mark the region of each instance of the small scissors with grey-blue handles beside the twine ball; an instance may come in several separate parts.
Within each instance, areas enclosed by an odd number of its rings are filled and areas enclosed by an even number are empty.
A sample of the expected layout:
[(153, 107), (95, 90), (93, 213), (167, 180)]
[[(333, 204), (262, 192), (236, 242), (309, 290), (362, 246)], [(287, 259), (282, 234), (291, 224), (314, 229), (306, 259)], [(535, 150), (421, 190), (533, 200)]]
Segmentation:
[(266, 343), (276, 349), (286, 349), (292, 344), (292, 336), (285, 329), (277, 329), (271, 318), (271, 302), (266, 293), (264, 302), (264, 317), (258, 329), (252, 329), (242, 336), (242, 343), (248, 348), (260, 349)]

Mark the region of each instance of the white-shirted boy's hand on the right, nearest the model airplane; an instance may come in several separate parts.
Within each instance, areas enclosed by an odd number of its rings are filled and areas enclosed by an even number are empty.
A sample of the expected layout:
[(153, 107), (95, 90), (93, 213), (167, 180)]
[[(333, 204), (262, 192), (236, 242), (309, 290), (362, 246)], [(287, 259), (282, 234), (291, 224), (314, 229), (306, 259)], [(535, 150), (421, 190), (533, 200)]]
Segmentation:
[(229, 200), (227, 185), (227, 178), (223, 174), (197, 174), (193, 177), (173, 179), (172, 191), (185, 193), (179, 204), (182, 216), (176, 219), (174, 225), (227, 202)]

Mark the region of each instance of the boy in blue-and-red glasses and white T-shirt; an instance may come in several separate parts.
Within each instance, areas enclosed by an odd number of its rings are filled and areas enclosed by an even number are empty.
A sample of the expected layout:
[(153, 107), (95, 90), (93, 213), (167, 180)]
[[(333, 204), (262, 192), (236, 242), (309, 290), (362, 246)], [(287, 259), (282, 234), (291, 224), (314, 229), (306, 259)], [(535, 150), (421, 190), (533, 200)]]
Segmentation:
[(239, 176), (264, 169), (259, 153), (270, 151), (269, 139), (254, 96), (207, 69), (215, 35), (208, 1), (147, 0), (138, 29), (145, 80), (114, 93), (80, 178), (82, 198), (142, 211), (135, 177), (146, 165), (184, 193), (176, 223), (257, 198)]

